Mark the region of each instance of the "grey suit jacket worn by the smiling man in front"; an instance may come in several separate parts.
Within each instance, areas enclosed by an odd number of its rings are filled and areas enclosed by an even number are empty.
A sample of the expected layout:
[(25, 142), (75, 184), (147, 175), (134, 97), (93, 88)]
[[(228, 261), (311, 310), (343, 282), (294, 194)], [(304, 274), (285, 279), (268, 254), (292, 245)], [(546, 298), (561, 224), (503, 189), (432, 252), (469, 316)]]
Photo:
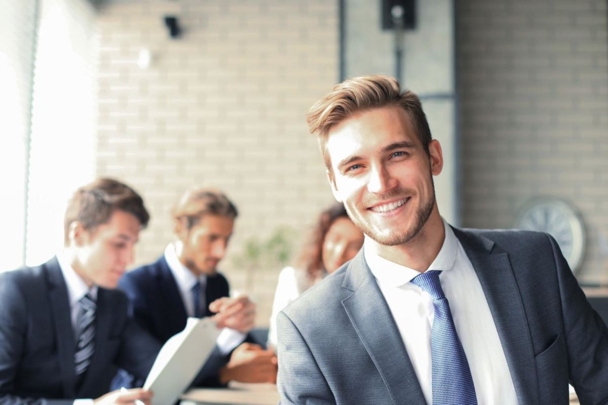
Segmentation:
[[(454, 230), (482, 285), (520, 404), (608, 401), (608, 330), (555, 240)], [(405, 310), (405, 308), (404, 308)], [(424, 404), (389, 307), (359, 252), (278, 316), (283, 404)]]

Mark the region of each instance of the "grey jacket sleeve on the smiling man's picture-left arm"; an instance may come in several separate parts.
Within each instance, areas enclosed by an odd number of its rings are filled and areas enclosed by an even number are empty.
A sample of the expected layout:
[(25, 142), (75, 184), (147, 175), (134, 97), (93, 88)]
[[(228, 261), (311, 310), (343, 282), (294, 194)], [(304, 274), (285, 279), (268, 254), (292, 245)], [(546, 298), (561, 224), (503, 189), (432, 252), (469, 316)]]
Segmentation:
[(283, 311), (277, 316), (280, 404), (335, 404), (330, 387), (302, 334)]

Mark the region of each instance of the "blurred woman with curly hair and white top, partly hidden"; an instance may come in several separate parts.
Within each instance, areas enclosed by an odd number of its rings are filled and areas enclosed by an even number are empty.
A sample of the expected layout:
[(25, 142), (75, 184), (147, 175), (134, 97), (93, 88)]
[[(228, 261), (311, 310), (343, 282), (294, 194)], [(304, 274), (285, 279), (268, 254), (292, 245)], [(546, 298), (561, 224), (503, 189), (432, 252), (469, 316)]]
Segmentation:
[(277, 314), (308, 288), (352, 259), (363, 245), (363, 233), (348, 218), (344, 205), (325, 209), (317, 220), (295, 267), (278, 276), (268, 333), (269, 346), (277, 345)]

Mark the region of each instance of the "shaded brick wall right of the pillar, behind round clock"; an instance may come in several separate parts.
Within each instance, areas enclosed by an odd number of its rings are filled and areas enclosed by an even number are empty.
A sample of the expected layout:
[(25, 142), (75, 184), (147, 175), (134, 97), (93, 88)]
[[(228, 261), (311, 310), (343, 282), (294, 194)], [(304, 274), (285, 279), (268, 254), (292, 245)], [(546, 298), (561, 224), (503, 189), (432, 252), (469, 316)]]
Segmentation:
[(584, 283), (608, 282), (606, 1), (457, 2), (463, 225), (508, 228), (537, 194), (587, 228)]

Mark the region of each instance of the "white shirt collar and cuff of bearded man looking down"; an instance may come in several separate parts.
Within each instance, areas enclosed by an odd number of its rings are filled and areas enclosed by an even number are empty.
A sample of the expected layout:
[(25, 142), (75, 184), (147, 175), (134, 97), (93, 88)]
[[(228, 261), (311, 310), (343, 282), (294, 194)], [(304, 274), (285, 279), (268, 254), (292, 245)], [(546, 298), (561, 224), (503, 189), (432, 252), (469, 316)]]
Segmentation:
[[(205, 287), (207, 285), (207, 276), (204, 274), (196, 277), (190, 269), (185, 267), (182, 262), (179, 261), (177, 251), (182, 249), (181, 242), (174, 242), (167, 246), (165, 249), (165, 260), (173, 273), (173, 278), (178, 285), (179, 294), (182, 297), (182, 302), (186, 308), (188, 316), (194, 316), (194, 298), (192, 296), (192, 287), (196, 282), (201, 283), (201, 302), (205, 302)], [(246, 334), (238, 332), (231, 328), (223, 328), (219, 333), (216, 340), (219, 351), (226, 355), (232, 351), (235, 347), (243, 343), (246, 338)]]

